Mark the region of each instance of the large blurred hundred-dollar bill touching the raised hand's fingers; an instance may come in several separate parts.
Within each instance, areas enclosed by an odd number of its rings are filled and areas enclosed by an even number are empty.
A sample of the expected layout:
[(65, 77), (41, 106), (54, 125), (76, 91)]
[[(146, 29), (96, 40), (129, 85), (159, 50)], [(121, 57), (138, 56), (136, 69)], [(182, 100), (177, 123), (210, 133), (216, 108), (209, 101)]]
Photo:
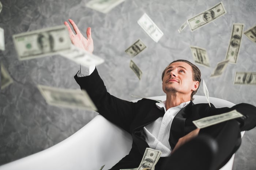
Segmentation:
[(12, 38), (19, 60), (53, 55), (71, 48), (65, 25), (23, 32)]

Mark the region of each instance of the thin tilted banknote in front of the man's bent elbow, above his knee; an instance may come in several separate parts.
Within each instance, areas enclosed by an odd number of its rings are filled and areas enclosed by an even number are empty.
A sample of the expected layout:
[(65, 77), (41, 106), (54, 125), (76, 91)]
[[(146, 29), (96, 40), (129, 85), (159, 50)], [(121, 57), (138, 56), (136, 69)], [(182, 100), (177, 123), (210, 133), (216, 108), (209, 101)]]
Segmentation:
[(222, 113), (220, 115), (214, 115), (214, 116), (208, 116), (204, 117), (202, 119), (198, 119), (195, 121), (192, 121), (197, 128), (205, 128), (217, 123), (221, 123), (223, 121), (227, 121), (230, 119), (235, 119), (237, 117), (242, 117), (243, 115), (236, 110), (233, 110), (231, 112)]

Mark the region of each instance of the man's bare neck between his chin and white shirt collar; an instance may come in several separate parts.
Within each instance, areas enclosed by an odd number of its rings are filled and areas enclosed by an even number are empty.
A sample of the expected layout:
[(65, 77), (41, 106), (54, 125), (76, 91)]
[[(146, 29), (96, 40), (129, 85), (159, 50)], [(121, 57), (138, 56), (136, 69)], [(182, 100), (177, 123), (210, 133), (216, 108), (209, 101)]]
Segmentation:
[(165, 107), (166, 107), (166, 111), (169, 108), (172, 107), (176, 107), (178, 105), (180, 105), (181, 103), (190, 101), (190, 96), (183, 96), (177, 93), (172, 93), (172, 94), (166, 94), (166, 103), (165, 103)]

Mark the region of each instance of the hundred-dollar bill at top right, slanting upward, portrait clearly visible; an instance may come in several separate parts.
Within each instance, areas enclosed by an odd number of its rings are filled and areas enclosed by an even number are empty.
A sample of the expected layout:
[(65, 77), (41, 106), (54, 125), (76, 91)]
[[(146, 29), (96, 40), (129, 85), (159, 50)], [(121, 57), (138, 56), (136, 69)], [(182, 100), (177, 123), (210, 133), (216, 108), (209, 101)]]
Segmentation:
[(222, 2), (216, 4), (214, 7), (207, 9), (206, 11), (193, 16), (188, 19), (188, 25), (191, 31), (195, 31), (197, 28), (205, 26), (206, 24), (214, 21), (226, 13)]

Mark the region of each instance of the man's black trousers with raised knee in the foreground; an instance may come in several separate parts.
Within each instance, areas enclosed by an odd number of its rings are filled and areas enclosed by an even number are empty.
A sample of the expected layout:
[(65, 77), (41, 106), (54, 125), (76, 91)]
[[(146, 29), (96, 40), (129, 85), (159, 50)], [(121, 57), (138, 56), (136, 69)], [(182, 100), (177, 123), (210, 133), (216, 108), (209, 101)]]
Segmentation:
[[(178, 148), (170, 157), (161, 157), (155, 170), (218, 170), (240, 147), (241, 135), (236, 120), (229, 120), (200, 130), (199, 135)], [(132, 145), (130, 153), (111, 170), (133, 169), (143, 155)]]

